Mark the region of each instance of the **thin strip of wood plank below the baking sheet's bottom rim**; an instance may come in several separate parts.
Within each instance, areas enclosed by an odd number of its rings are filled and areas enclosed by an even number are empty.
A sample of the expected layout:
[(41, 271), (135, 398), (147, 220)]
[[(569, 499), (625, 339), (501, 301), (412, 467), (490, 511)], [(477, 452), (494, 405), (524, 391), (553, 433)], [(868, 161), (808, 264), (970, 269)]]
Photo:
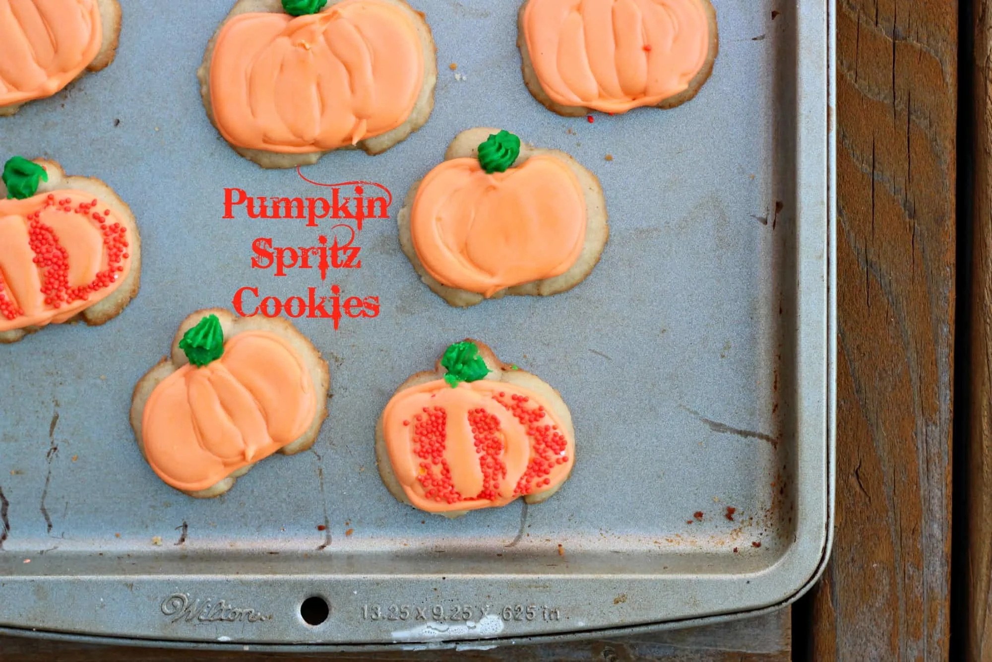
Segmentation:
[(790, 610), (739, 621), (636, 637), (577, 641), (542, 646), (510, 646), (485, 651), (421, 651), (358, 654), (279, 655), (250, 650), (207, 652), (160, 648), (112, 647), (45, 639), (0, 637), (4, 662), (263, 662), (267, 660), (333, 660), (353, 662), (789, 662), (792, 654)]

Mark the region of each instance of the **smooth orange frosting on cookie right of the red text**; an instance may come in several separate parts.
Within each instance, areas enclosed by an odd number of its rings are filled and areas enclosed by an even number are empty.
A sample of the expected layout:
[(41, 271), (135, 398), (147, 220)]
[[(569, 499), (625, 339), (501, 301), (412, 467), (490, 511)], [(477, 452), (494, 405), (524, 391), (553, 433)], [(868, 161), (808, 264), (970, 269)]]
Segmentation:
[(586, 223), (578, 178), (549, 155), (491, 175), (478, 159), (444, 161), (421, 182), (410, 215), (428, 273), (486, 297), (563, 274), (582, 252)]

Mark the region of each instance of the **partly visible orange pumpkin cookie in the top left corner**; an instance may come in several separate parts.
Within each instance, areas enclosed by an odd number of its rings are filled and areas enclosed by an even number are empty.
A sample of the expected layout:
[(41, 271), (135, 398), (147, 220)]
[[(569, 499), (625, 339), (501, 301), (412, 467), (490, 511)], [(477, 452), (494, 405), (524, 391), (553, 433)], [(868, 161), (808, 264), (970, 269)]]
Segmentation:
[(0, 115), (114, 60), (117, 0), (0, 0)]

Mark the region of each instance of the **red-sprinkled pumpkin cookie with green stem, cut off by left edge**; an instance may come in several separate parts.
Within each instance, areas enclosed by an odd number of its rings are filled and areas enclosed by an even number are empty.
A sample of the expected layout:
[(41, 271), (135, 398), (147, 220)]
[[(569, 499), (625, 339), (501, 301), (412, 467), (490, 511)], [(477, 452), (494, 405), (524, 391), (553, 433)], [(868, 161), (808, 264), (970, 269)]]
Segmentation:
[(0, 186), (0, 342), (81, 318), (102, 325), (138, 292), (131, 209), (99, 180), (10, 159)]

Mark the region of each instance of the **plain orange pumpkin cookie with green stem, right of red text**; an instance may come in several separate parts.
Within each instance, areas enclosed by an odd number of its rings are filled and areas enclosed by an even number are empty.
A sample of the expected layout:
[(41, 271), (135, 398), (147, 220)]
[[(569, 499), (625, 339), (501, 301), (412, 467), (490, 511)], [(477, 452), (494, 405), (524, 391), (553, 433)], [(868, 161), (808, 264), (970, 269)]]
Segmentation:
[(609, 236), (596, 176), (499, 129), (458, 134), (398, 216), (400, 245), (451, 306), (549, 296), (580, 283)]

